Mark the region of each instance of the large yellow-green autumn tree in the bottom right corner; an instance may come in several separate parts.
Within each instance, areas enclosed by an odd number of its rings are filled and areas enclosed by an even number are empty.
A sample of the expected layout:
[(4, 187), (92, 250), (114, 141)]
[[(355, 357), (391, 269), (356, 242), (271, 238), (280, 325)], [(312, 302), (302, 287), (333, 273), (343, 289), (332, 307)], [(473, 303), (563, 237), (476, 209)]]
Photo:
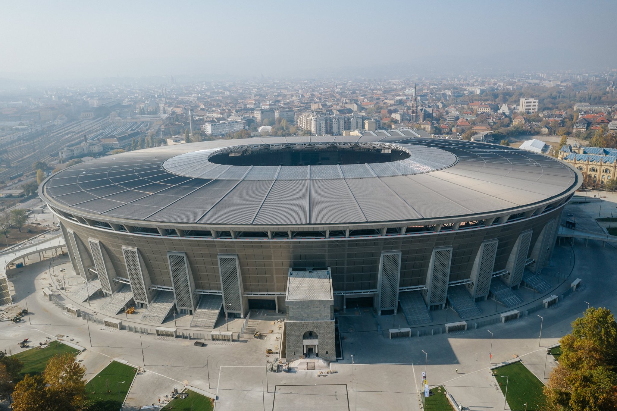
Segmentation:
[(544, 388), (553, 409), (617, 409), (617, 323), (608, 309), (591, 307), (561, 338), (559, 365)]

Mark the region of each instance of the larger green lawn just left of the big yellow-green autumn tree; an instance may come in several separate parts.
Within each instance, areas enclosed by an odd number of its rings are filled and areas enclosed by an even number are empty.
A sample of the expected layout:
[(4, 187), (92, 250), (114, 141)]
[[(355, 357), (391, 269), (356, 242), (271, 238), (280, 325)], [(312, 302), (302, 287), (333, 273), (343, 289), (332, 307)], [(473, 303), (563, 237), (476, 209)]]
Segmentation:
[(524, 410), (525, 404), (529, 411), (542, 409), (544, 384), (522, 362), (496, 368), (493, 370), (493, 375), (504, 394), (507, 383), (505, 376), (510, 376), (507, 401), (511, 410)]

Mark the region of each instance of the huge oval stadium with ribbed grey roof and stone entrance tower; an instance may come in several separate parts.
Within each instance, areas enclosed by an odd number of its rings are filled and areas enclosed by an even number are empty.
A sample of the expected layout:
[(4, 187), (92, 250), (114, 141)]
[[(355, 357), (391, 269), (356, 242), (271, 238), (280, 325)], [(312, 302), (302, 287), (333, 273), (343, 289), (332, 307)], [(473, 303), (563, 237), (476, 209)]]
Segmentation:
[(389, 130), (126, 152), (58, 172), (39, 195), (81, 297), (104, 294), (109, 315), (134, 303), (160, 324), (175, 307), (213, 328), (221, 310), (273, 309), (287, 313), (288, 359), (333, 359), (337, 310), (403, 310), (414, 326), (446, 304), (461, 318), (489, 296), (518, 304), (580, 183), (541, 154)]

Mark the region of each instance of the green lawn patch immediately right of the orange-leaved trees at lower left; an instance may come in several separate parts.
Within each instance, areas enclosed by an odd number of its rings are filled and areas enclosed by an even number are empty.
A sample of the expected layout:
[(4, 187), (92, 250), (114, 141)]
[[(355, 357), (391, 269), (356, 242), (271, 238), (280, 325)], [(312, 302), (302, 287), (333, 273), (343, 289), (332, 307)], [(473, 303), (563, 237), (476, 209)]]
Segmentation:
[[(93, 402), (88, 411), (119, 410), (137, 370), (122, 362), (111, 362), (86, 384), (86, 394)], [(107, 392), (106, 380), (109, 380)], [(118, 383), (118, 384), (117, 384)], [(120, 394), (118, 394), (120, 391)]]

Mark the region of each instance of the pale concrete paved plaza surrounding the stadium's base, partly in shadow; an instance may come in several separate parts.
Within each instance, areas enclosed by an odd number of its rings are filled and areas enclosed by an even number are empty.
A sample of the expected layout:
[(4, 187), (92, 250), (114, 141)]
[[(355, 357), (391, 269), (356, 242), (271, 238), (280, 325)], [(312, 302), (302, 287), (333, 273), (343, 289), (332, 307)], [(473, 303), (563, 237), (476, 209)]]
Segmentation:
[[(575, 215), (586, 230), (602, 233), (602, 227), (593, 218), (598, 213), (610, 217), (611, 210), (615, 214), (617, 206), (617, 196), (606, 195), (602, 210), (597, 203), (570, 204), (566, 213)], [(315, 409), (317, 406), (328, 410), (420, 410), (418, 391), (425, 360), (431, 386), (443, 384), (459, 404), (470, 410), (498, 410), (503, 409), (503, 394), (491, 376), (491, 365), (518, 356), (534, 375), (546, 381), (544, 377), (555, 367), (555, 362), (552, 356), (545, 354), (545, 347), (555, 344), (569, 332), (570, 323), (584, 312), (587, 302), (597, 307), (617, 308), (611, 264), (617, 257), (615, 247), (592, 240), (586, 245), (584, 240), (576, 239), (572, 247), (569, 241), (564, 240), (555, 248), (551, 267), (542, 272), (553, 286), (558, 285), (556, 290), (547, 294), (564, 296), (555, 306), (530, 312), (507, 323), (482, 325), (482, 318), (474, 318), (468, 323), (478, 322), (477, 329), (469, 326), (467, 331), (452, 334), (396, 339), (388, 339), (384, 330), (407, 326), (401, 313), (379, 317), (370, 309), (348, 309), (337, 316), (344, 359), (331, 364), (336, 373), (321, 377), (317, 377), (315, 371), (266, 372), (266, 361), (273, 360), (276, 355), (268, 357), (265, 349), (279, 345), (276, 338), (281, 336), (278, 327), (271, 322), (282, 315), (265, 310), (251, 313), (256, 328), (265, 333), (263, 339), (207, 341), (207, 346), (197, 347), (189, 339), (113, 331), (96, 323), (89, 324), (88, 335), (88, 325), (83, 319), (62, 312), (42, 293), (43, 288), (53, 288), (58, 284), (56, 278), (62, 277), (60, 268), (65, 268), (62, 281), (67, 284), (67, 290), (61, 291), (60, 296), (70, 300), (78, 277), (72, 272), (67, 257), (56, 257), (51, 271), (49, 260), (28, 260), (19, 272), (9, 273), (15, 304), (4, 306), (2, 310), (25, 307), (27, 299), (31, 314), (17, 324), (0, 323), (0, 349), (15, 353), (22, 350), (17, 347), (17, 342), (23, 338), (38, 345), (46, 337), (62, 335), (64, 339), (73, 339), (73, 343), (86, 348), (78, 358), (88, 368), (87, 378), (96, 375), (112, 359), (143, 367), (145, 372), (137, 376), (126, 400), (127, 410), (157, 403), (173, 388), (183, 389), (186, 384), (189, 388), (217, 396), (216, 408), (221, 411), (262, 409), (264, 404), (266, 409), (275, 410)], [(569, 292), (569, 283), (575, 278), (582, 278), (584, 287)], [(535, 294), (524, 290), (525, 305), (517, 309), (524, 312), (526, 307), (536, 305), (537, 302), (531, 302), (531, 299), (543, 296)], [(79, 305), (86, 312), (96, 313), (101, 300), (93, 299), (91, 307), (87, 301)], [(505, 310), (491, 300), (481, 302), (479, 307), (484, 316), (494, 315), (495, 307), (498, 311)], [(541, 341), (537, 315), (544, 317)], [(135, 325), (139, 324), (138, 317), (133, 315), (126, 319), (124, 314), (117, 316), (125, 323)], [(445, 322), (460, 320), (452, 310), (431, 312), (431, 317), (433, 323), (426, 329), (437, 330)], [(179, 331), (196, 332), (189, 327), (189, 322), (188, 316), (176, 318)], [(226, 323), (223, 318), (217, 322), (217, 328), (238, 332), (243, 322), (234, 319)], [(173, 317), (168, 318), (164, 326), (173, 326)], [(492, 360), (489, 358), (491, 334), (488, 330), (494, 334)], [(351, 355), (354, 355), (353, 365)]]

